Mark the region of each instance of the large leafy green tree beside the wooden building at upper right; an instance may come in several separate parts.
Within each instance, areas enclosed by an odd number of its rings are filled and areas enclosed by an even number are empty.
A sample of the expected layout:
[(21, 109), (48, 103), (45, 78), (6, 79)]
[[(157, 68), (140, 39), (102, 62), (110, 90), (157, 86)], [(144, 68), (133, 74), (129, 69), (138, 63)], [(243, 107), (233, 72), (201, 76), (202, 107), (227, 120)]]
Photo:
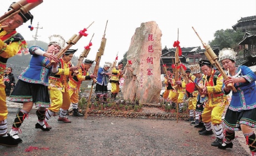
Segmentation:
[(233, 29), (218, 30), (214, 33), (214, 39), (210, 41), (210, 46), (219, 46), (223, 48), (235, 48), (237, 44), (243, 39), (244, 32)]

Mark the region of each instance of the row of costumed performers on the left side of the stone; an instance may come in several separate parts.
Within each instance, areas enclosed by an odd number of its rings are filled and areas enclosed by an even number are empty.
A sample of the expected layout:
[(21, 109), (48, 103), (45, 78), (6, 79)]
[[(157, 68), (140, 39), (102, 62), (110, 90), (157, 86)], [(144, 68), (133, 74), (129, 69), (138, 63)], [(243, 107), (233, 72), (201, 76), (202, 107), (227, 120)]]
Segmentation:
[[(103, 68), (98, 69), (97, 75), (91, 74), (89, 68), (94, 61), (85, 59), (80, 66), (72, 64), (71, 59), (77, 49), (67, 50), (60, 59), (55, 56), (65, 45), (64, 38), (56, 34), (49, 36), (47, 50), (32, 46), (27, 51), (27, 43), (16, 29), (29, 20), (32, 22), (33, 18), (30, 12), (26, 14), (19, 12), (0, 24), (0, 26), (8, 26), (0, 28), (0, 146), (13, 147), (22, 142), (18, 136), (21, 133), (20, 126), (29, 117), (34, 104), (38, 108), (36, 111), (38, 123), (35, 128), (43, 131), (51, 129), (48, 121), (52, 116), (57, 115), (57, 112), (60, 112), (58, 121), (71, 123), (66, 118), (71, 103), (73, 116), (84, 116), (78, 111), (78, 101), (80, 86), (85, 80), (97, 78), (96, 100), (99, 100), (100, 95), (103, 94), (103, 99), (106, 101), (108, 93), (106, 77), (111, 80), (111, 97), (116, 98), (119, 92), (123, 62), (113, 67), (111, 72), (108, 71), (110, 64), (105, 64)], [(6, 62), (8, 58), (21, 52), (30, 53), (32, 57), (28, 67), (18, 76), (13, 92), (6, 99), (3, 81)], [(6, 100), (23, 103), (22, 109), (14, 117), (9, 133), (7, 133)]]

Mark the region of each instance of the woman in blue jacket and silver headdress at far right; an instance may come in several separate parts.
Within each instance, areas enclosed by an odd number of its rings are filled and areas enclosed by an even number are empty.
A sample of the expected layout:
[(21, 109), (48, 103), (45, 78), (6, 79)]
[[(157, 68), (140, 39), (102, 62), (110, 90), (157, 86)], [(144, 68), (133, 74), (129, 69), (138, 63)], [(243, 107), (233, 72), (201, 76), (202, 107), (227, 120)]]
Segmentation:
[[(256, 74), (247, 66), (236, 66), (236, 53), (225, 48), (219, 52), (219, 61), (229, 71), (229, 80), (224, 81), (223, 93), (229, 94), (227, 84), (232, 83), (237, 92), (232, 92), (230, 105), (226, 111), (223, 125), (226, 129), (225, 141), (219, 149), (232, 148), (235, 131), (242, 130), (252, 156), (256, 156)], [(230, 76), (229, 76), (230, 74)]]

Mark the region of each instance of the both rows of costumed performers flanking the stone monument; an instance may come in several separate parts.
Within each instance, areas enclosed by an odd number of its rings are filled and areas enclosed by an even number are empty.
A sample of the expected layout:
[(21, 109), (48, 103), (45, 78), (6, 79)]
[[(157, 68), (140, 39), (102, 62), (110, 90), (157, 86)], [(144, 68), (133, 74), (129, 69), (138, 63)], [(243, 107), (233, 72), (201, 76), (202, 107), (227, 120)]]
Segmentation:
[[(50, 130), (48, 121), (58, 111), (60, 111), (58, 121), (71, 123), (65, 117), (71, 103), (73, 115), (83, 116), (78, 112), (79, 88), (82, 81), (96, 78), (96, 100), (99, 100), (101, 95), (104, 101), (107, 100), (107, 78), (112, 85), (111, 97), (116, 98), (119, 93), (123, 62), (118, 62), (118, 66), (113, 67), (110, 72), (108, 69), (111, 65), (105, 64), (103, 68), (98, 69), (96, 76), (88, 70), (93, 61), (85, 59), (81, 66), (72, 64), (71, 59), (77, 50), (69, 49), (61, 59), (58, 59), (54, 54), (64, 47), (65, 40), (60, 35), (51, 35), (47, 50), (38, 46), (29, 48), (31, 61), (18, 76), (16, 87), (8, 99), (23, 103), (23, 107), (14, 117), (12, 128), (7, 133), (8, 111), (3, 74), (8, 58), (26, 48), (26, 41), (16, 28), (32, 19), (33, 15), (30, 12), (26, 14), (19, 12), (0, 24), (0, 26), (8, 25), (0, 29), (0, 145), (2, 146), (18, 146), (22, 142), (18, 136), (21, 132), (20, 126), (28, 117), (34, 103), (38, 107), (36, 111), (38, 123), (35, 128), (43, 131)], [(218, 58), (223, 68), (228, 71), (228, 80), (224, 80), (221, 73), (207, 60), (191, 65), (190, 69), (185, 71), (189, 81), (202, 89), (200, 93), (196, 90), (188, 93), (190, 116), (188, 121), (195, 127), (202, 127), (199, 130), (200, 135), (212, 135), (214, 131), (216, 140), (212, 146), (219, 149), (232, 148), (235, 131), (242, 130), (252, 155), (256, 156), (256, 135), (253, 131), (256, 127), (256, 75), (249, 67), (236, 64), (236, 53), (233, 49), (221, 50)], [(48, 66), (49, 63), (51, 65)], [(184, 80), (185, 75), (177, 74), (168, 69), (167, 88), (163, 97), (176, 103), (179, 112), (182, 112), (187, 84)], [(178, 77), (176, 81), (175, 76)], [(231, 92), (230, 84), (237, 92), (232, 91), (229, 102), (227, 97)], [(222, 120), (226, 105), (228, 109)]]

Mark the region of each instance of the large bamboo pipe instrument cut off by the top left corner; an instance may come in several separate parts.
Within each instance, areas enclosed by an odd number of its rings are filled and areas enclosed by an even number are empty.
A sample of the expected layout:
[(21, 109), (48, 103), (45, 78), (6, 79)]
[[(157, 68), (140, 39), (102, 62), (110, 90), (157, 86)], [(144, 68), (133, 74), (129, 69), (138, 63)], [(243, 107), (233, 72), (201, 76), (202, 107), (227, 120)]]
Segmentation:
[(28, 13), (31, 9), (41, 4), (43, 0), (20, 0), (12, 4), (11, 9), (0, 17), (0, 23), (20, 12)]

